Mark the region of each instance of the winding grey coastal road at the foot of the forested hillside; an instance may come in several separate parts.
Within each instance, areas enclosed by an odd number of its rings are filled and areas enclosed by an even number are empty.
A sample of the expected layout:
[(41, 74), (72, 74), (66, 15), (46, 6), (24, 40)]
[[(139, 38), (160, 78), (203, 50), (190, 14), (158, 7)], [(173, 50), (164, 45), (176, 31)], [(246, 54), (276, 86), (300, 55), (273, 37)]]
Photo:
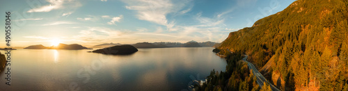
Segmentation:
[(254, 76), (256, 76), (256, 79), (257, 79), (256, 82), (258, 82), (258, 84), (260, 85), (260, 88), (262, 87), (262, 85), (264, 85), (263, 82), (266, 82), (271, 86), (271, 89), (273, 91), (280, 91), (273, 84), (269, 83), (269, 81), (267, 81), (267, 79), (264, 78), (264, 76), (258, 71), (258, 69), (256, 69), (256, 67), (252, 63), (249, 63), (248, 61), (246, 61), (246, 58), (248, 58), (248, 56), (245, 55), (245, 57), (242, 60), (244, 62), (248, 63), (249, 69), (253, 70), (253, 74), (254, 74)]

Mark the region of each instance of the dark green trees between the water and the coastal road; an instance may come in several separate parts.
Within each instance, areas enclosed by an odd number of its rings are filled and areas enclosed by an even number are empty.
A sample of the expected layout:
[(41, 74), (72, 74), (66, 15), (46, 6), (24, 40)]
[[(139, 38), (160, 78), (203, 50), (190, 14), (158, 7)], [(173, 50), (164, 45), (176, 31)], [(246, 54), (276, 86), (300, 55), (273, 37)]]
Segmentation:
[(226, 72), (216, 72), (213, 69), (207, 76), (207, 81), (195, 90), (260, 90), (247, 63), (242, 61), (242, 52), (228, 53), (226, 59)]

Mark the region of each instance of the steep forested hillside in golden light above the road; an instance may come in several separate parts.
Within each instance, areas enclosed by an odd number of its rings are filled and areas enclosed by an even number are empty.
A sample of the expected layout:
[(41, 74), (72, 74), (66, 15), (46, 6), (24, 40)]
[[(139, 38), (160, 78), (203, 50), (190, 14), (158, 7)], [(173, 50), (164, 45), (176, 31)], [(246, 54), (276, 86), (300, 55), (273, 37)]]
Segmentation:
[(347, 8), (348, 1), (294, 1), (230, 33), (219, 53), (242, 51), (258, 69), (274, 58), (268, 70), (285, 81), (282, 90), (347, 90)]

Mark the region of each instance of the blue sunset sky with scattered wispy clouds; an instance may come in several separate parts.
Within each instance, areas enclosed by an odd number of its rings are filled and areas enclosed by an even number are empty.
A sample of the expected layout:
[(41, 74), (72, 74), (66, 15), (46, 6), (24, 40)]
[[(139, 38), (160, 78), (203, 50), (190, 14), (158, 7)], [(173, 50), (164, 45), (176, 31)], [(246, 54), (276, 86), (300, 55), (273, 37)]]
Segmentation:
[[(11, 46), (52, 42), (222, 42), (233, 31), (284, 10), (294, 0), (6, 0)], [(0, 33), (5, 47), (5, 31)]]

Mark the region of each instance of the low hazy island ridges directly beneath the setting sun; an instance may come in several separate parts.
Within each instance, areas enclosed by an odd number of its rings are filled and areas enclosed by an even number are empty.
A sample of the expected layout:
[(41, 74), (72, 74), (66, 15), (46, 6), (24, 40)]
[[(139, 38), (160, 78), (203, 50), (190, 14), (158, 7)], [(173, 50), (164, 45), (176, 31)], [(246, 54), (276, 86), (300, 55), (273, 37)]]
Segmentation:
[(69, 49), (69, 50), (77, 50), (77, 49), (89, 49), (87, 47), (83, 47), (80, 44), (58, 44), (58, 46), (45, 47), (42, 44), (31, 45), (29, 47), (25, 47), (24, 49)]

